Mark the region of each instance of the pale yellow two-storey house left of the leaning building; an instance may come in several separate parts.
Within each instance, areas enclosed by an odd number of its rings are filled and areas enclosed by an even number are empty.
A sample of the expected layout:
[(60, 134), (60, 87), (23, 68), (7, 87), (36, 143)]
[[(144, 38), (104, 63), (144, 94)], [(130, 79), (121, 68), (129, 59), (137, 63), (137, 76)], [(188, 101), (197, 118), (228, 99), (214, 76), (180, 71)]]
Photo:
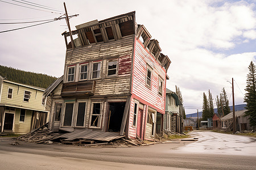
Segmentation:
[(0, 76), (0, 130), (28, 133), (47, 122), (44, 88), (11, 82)]

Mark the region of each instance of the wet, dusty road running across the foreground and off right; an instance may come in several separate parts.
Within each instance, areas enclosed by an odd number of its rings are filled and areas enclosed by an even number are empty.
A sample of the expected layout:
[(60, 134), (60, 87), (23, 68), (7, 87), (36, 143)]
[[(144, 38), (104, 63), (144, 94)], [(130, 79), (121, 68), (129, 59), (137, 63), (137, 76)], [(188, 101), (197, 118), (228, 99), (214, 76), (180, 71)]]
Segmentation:
[(0, 169), (256, 169), (255, 138), (209, 131), (192, 134), (199, 141), (121, 148), (14, 146), (14, 141), (0, 138)]

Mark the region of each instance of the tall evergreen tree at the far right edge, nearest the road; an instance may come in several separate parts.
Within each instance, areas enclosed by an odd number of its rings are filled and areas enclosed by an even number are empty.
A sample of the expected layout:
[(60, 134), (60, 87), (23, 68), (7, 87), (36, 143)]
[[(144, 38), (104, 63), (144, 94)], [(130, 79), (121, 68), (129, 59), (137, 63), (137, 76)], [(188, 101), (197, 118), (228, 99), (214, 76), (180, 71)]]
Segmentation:
[(245, 102), (247, 103), (245, 116), (250, 116), (250, 126), (256, 129), (256, 66), (253, 61), (250, 62), (248, 69), (249, 74), (247, 74), (245, 88)]

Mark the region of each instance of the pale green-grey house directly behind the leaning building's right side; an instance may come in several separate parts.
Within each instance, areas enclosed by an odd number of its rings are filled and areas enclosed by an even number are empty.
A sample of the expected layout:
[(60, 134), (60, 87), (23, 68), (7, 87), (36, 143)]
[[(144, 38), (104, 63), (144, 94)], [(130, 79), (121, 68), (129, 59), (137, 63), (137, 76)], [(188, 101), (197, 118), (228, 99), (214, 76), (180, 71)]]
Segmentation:
[(182, 104), (177, 94), (166, 89), (166, 114), (164, 114), (164, 130), (182, 133), (183, 131), (183, 114)]

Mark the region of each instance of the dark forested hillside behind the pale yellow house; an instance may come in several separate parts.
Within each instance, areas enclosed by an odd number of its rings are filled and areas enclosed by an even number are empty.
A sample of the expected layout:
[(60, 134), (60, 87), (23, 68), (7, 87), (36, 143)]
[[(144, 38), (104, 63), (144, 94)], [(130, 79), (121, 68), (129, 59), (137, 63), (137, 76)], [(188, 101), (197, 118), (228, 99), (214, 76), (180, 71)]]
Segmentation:
[(0, 75), (7, 80), (47, 88), (57, 78), (46, 74), (32, 73), (0, 65)]

